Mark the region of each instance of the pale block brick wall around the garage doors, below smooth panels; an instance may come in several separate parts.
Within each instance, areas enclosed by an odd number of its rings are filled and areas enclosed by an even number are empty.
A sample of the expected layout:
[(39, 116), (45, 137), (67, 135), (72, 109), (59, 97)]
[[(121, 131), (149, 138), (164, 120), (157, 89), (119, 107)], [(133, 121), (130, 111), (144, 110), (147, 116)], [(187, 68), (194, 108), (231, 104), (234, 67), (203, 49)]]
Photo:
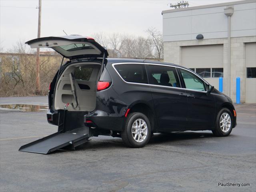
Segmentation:
[[(256, 36), (231, 38), (231, 85), (227, 84), (227, 38), (219, 39), (202, 39), (202, 40), (189, 40), (189, 41), (175, 41), (164, 42), (164, 62), (170, 62), (174, 64), (182, 65), (181, 58), (182, 46), (198, 46), (198, 45), (213, 45), (223, 44), (223, 92), (226, 94), (228, 86), (230, 86), (230, 97), (236, 101), (236, 77), (240, 77), (241, 82), (241, 102), (245, 102), (245, 78), (246, 78), (246, 66), (245, 66), (245, 43), (256, 42)], [(213, 66), (210, 66), (213, 67)]]

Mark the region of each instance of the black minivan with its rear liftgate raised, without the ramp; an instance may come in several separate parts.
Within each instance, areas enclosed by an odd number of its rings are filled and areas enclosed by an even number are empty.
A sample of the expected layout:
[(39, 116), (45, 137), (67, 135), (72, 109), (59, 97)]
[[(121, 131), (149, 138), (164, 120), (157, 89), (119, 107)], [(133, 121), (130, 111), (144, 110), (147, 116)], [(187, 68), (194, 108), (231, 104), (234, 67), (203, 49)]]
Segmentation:
[(47, 119), (58, 132), (82, 128), (88, 136), (122, 137), (124, 144), (138, 148), (155, 132), (212, 130), (228, 136), (236, 126), (232, 100), (183, 66), (107, 58), (107, 50), (86, 36), (26, 43), (69, 59), (49, 88)]

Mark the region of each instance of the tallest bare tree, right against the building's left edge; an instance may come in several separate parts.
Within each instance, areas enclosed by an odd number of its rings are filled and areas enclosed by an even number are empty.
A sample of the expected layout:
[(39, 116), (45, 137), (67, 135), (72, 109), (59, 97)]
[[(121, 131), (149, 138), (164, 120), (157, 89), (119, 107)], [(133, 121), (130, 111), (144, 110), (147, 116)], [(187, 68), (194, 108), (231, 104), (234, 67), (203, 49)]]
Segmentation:
[(164, 54), (162, 33), (154, 27), (148, 28), (146, 32), (148, 33), (149, 40), (154, 47), (154, 54), (152, 56), (160, 60), (161, 58), (163, 58)]

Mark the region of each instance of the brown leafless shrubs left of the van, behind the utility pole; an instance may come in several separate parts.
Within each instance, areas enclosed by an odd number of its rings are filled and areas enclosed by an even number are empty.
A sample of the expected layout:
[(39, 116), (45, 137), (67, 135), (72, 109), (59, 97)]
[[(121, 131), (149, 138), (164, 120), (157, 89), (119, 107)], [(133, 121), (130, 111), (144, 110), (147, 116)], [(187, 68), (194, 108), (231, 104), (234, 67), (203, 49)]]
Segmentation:
[[(18, 42), (9, 53), (1, 53), (0, 58), (0, 96), (34, 95), (36, 91), (36, 54), (26, 50), (24, 43)], [(42, 94), (47, 94), (49, 83), (58, 70), (61, 59), (58, 55), (40, 56)]]

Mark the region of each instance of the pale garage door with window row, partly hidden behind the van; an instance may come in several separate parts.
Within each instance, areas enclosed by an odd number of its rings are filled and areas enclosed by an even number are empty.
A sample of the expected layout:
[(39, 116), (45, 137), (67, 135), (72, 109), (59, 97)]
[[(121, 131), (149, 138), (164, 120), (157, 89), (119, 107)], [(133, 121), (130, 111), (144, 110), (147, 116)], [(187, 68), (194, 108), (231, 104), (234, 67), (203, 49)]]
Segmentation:
[(216, 89), (223, 76), (223, 44), (183, 46), (181, 64), (200, 74)]

